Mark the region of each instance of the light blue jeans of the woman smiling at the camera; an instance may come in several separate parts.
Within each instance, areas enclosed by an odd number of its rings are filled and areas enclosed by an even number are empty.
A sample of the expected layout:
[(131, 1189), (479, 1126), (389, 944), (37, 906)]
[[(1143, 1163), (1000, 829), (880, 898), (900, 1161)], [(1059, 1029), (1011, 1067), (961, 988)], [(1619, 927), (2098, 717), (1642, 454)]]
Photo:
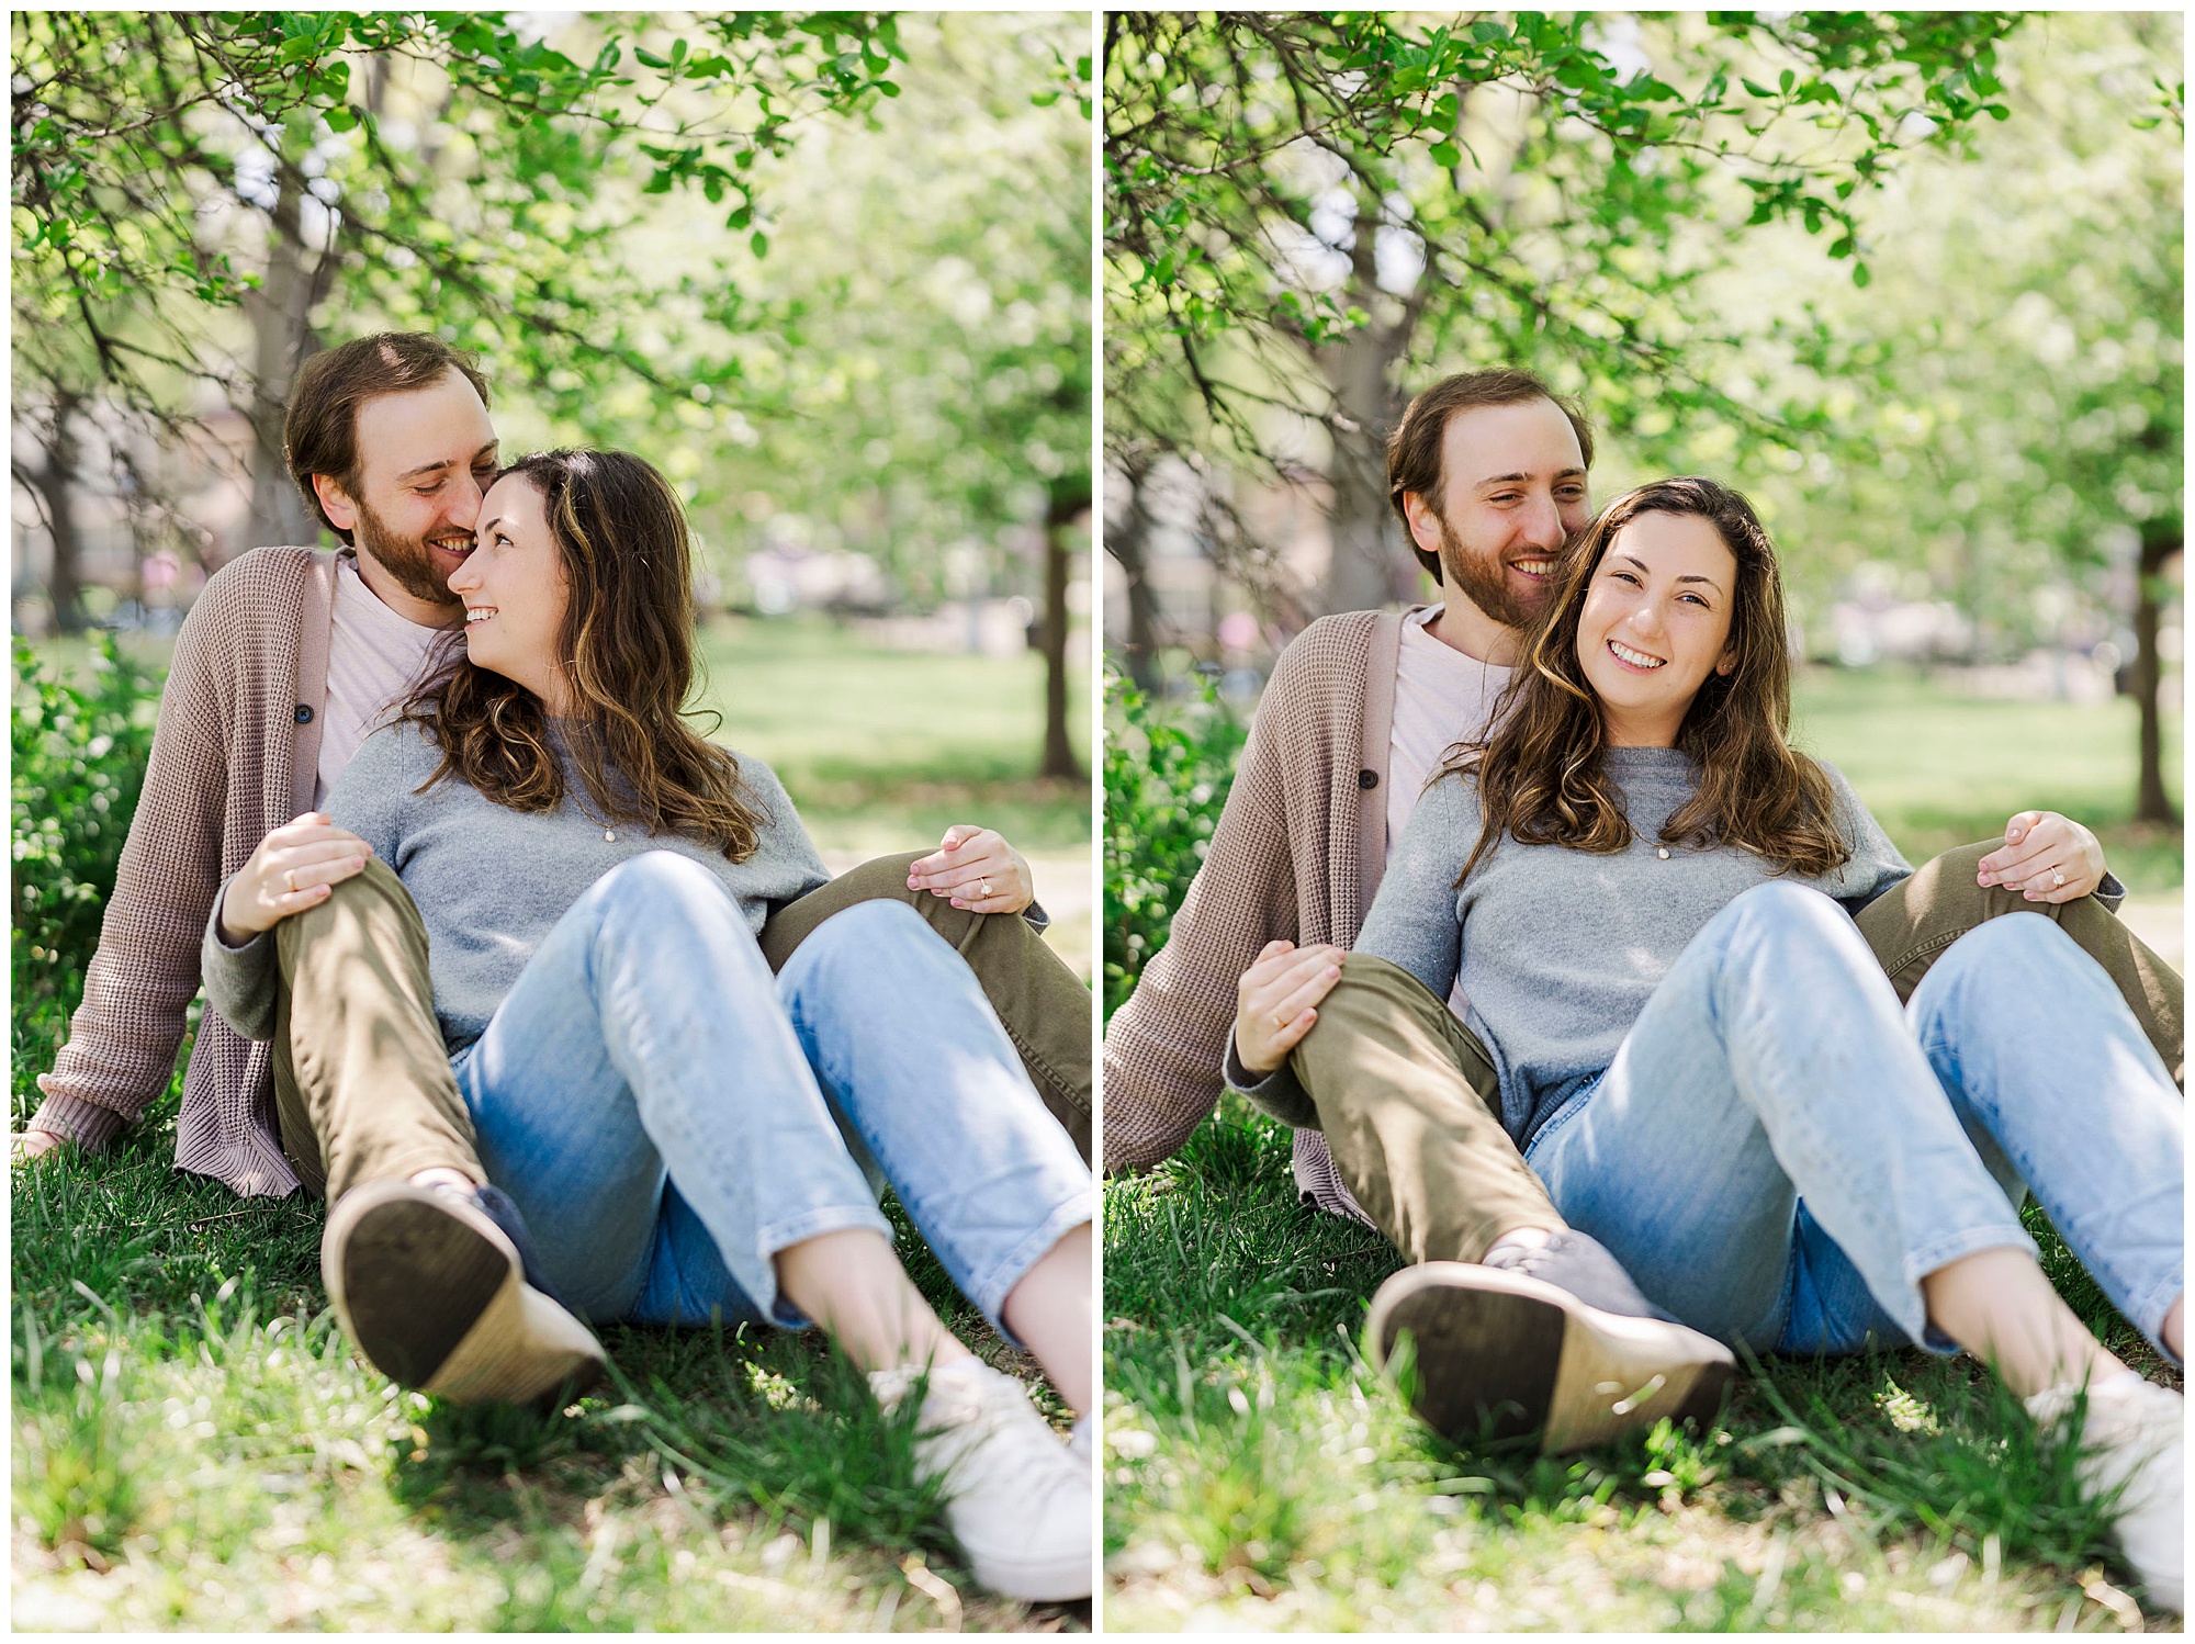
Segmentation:
[(1921, 1280), (2033, 1255), (2026, 1192), (2160, 1350), (2186, 1286), (2182, 1100), (2035, 913), (1975, 926), (1901, 1007), (1835, 902), (1747, 891), (1526, 1159), (1646, 1295), (1765, 1352), (1954, 1350)]

